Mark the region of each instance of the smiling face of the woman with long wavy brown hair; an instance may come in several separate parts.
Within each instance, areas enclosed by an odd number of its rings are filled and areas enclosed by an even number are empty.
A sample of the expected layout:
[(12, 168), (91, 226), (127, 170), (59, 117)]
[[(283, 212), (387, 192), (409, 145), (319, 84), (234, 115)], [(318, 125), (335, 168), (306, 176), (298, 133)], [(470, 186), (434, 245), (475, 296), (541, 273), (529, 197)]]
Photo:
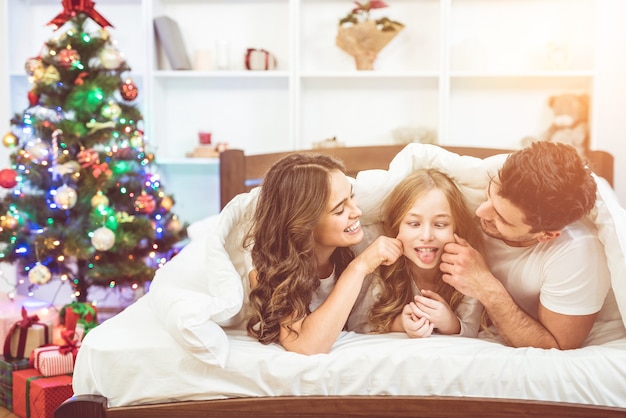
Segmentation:
[(345, 174), (334, 170), (330, 175), (330, 198), (326, 203), (326, 212), (313, 230), (317, 250), (332, 252), (337, 247), (349, 247), (361, 242), (361, 214), (352, 193), (352, 184)]

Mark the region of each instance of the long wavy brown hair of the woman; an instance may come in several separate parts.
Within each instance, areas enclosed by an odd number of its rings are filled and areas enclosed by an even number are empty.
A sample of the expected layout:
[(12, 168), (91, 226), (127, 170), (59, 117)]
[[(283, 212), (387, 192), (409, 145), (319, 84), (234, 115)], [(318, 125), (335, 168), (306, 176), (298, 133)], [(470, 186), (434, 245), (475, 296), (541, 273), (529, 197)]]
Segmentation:
[[(281, 323), (304, 318), (319, 287), (313, 229), (326, 211), (330, 174), (345, 173), (327, 155), (291, 154), (278, 161), (263, 180), (244, 246), (252, 246), (257, 286), (250, 293), (248, 334), (263, 344), (279, 341)], [(349, 248), (331, 256), (337, 277), (354, 258)]]

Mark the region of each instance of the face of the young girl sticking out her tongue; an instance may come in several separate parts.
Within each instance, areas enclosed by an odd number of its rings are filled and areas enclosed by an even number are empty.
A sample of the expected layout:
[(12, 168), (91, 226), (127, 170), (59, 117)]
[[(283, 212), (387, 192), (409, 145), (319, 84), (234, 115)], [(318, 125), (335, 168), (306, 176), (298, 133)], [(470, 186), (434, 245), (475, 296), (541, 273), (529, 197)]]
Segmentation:
[(423, 269), (439, 265), (443, 246), (454, 241), (455, 225), (448, 199), (439, 189), (432, 189), (415, 199), (402, 219), (398, 239), (404, 256)]

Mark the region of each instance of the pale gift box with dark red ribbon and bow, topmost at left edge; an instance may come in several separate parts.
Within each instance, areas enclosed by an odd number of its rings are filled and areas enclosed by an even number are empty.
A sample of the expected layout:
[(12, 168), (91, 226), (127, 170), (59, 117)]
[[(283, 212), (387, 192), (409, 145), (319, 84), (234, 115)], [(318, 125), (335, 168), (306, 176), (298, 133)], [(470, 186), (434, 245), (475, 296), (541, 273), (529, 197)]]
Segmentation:
[(6, 359), (29, 358), (32, 351), (52, 342), (52, 322), (41, 322), (22, 307), (22, 319), (13, 324), (4, 340)]

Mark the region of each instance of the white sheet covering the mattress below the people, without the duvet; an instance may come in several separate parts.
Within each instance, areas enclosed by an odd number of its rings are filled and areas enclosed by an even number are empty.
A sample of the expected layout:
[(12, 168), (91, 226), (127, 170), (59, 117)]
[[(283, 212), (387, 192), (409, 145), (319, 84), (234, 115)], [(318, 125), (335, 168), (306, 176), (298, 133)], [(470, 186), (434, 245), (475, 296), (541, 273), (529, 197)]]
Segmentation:
[(305, 356), (227, 331), (225, 367), (198, 360), (152, 311), (150, 294), (90, 331), (75, 394), (109, 406), (279, 395), (439, 395), (626, 407), (626, 337), (559, 351), (483, 339), (343, 333), (329, 354)]

